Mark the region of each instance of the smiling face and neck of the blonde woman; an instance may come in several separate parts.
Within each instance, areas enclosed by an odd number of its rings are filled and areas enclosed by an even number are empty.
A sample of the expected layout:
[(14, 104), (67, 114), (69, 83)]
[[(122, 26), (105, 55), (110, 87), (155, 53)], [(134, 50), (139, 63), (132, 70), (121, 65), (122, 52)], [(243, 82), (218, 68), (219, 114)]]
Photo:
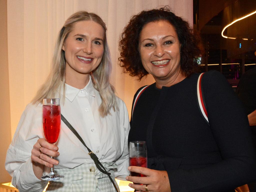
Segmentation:
[(89, 81), (90, 72), (99, 66), (104, 53), (104, 35), (103, 27), (94, 21), (74, 23), (62, 46), (66, 58), (66, 83), (74, 86), (76, 81)]

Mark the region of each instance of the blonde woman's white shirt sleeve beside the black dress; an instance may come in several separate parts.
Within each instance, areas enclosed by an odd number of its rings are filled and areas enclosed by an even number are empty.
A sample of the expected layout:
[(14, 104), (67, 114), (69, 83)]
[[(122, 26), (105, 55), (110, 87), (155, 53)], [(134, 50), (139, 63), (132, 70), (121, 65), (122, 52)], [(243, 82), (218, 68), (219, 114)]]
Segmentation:
[(118, 167), (115, 169), (115, 177), (120, 180), (126, 180), (125, 177), (129, 175), (128, 166), (129, 166), (129, 149), (128, 149), (128, 134), (130, 131), (130, 122), (127, 108), (123, 101), (119, 105), (120, 110), (120, 129), (121, 130), (121, 141), (124, 141), (124, 144), (121, 145), (123, 151), (122, 155), (116, 160)]

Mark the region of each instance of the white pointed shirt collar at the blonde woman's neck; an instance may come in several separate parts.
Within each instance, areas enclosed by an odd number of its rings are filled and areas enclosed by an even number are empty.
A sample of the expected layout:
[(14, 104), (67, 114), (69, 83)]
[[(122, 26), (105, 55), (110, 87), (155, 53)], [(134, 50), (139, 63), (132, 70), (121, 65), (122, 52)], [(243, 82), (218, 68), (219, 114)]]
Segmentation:
[(91, 76), (89, 78), (89, 82), (87, 83), (87, 85), (83, 89), (77, 89), (75, 87), (72, 87), (72, 86), (68, 85), (67, 83), (65, 83), (65, 86), (66, 86), (65, 97), (70, 102), (72, 102), (74, 100), (74, 98), (77, 96), (77, 94), (81, 90), (86, 91), (89, 95), (91, 95), (92, 97), (95, 97), (95, 92), (94, 92), (94, 87), (92, 85)]

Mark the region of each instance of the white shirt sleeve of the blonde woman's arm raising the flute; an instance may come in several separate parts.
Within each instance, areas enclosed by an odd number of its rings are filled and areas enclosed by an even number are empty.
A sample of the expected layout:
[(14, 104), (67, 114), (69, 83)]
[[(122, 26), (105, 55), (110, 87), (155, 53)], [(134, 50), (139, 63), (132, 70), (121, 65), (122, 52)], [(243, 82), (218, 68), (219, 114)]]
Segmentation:
[(12, 176), (12, 184), (20, 192), (42, 191), (48, 183), (35, 176), (31, 160), (33, 145), (38, 138), (42, 137), (41, 107), (38, 109), (38, 107), (29, 104), (20, 118), (12, 143), (7, 150), (5, 161), (5, 168)]

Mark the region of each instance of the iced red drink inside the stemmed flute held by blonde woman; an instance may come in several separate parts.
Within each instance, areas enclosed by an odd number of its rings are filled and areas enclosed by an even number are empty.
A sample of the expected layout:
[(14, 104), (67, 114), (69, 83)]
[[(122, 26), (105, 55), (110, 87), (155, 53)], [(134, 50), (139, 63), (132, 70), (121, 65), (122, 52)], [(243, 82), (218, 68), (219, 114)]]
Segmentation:
[(45, 139), (56, 143), (60, 134), (60, 106), (43, 105), (43, 128)]

